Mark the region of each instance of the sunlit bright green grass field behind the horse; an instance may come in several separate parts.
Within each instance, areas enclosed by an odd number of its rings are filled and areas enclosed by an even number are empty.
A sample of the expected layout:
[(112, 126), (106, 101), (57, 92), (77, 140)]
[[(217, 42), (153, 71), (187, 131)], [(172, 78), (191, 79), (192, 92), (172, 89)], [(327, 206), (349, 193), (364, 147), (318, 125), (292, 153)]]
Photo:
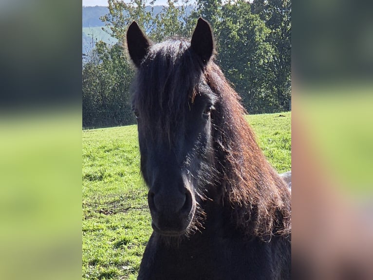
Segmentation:
[[(290, 170), (291, 113), (247, 120), (272, 165), (279, 173)], [(83, 279), (137, 277), (152, 230), (136, 129), (83, 131)]]

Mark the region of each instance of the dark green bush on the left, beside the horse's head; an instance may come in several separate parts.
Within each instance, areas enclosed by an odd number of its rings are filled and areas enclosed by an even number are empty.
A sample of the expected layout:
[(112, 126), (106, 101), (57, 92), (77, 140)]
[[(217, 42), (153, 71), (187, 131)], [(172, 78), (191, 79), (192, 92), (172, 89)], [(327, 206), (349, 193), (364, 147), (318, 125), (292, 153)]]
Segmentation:
[(83, 127), (134, 123), (129, 93), (132, 77), (132, 67), (119, 43), (96, 43), (91, 59), (83, 67)]

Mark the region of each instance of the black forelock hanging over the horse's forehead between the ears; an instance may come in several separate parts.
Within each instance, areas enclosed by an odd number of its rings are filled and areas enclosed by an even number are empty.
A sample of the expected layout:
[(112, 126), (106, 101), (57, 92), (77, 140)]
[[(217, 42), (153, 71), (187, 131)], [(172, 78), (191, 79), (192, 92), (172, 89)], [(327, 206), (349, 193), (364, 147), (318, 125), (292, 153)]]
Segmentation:
[(150, 47), (135, 78), (132, 102), (157, 139), (174, 140), (171, 130), (184, 124), (202, 73), (188, 41), (166, 40)]

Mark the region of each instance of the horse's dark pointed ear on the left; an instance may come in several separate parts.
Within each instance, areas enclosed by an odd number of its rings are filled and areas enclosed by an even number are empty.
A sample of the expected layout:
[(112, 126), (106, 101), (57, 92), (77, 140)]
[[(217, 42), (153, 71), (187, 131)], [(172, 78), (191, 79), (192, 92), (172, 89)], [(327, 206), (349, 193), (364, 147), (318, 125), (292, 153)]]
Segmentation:
[(131, 60), (139, 67), (141, 61), (148, 53), (150, 41), (141, 31), (136, 21), (133, 21), (127, 30), (127, 47)]

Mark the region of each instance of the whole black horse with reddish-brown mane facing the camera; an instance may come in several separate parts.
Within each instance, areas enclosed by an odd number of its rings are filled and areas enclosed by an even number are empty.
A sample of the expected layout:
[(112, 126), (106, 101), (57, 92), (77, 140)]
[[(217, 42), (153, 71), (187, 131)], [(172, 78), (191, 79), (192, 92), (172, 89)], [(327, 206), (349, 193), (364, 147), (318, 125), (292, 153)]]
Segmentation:
[(132, 22), (127, 44), (153, 227), (138, 279), (290, 279), (290, 192), (212, 61), (210, 25), (152, 44)]

